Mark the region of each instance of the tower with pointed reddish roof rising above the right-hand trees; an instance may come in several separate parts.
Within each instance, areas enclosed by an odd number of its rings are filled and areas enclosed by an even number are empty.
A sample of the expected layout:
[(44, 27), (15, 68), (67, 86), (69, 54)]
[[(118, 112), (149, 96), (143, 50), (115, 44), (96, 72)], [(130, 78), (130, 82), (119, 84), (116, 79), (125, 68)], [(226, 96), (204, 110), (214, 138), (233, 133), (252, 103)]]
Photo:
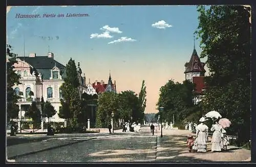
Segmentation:
[(195, 49), (190, 57), (189, 62), (185, 63), (185, 80), (189, 80), (193, 84), (195, 84), (195, 97), (193, 99), (194, 103), (197, 104), (199, 101), (201, 101), (203, 97), (203, 90), (205, 89), (205, 82), (204, 82), (204, 75), (205, 75), (205, 69), (204, 69), (205, 63), (200, 61), (200, 58), (198, 57), (197, 51)]

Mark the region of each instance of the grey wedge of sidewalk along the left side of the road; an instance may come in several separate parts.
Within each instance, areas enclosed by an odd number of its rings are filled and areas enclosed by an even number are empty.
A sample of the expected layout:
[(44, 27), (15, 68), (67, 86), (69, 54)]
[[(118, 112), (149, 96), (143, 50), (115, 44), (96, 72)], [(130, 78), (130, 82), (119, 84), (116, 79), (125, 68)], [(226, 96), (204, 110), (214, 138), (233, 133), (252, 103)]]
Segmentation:
[(74, 140), (68, 138), (48, 138), (41, 142), (23, 143), (6, 147), (8, 159), (15, 159), (17, 156), (29, 155), (36, 152), (46, 151), (62, 146), (67, 146), (79, 142), (95, 139), (96, 137), (83, 137), (81, 140)]

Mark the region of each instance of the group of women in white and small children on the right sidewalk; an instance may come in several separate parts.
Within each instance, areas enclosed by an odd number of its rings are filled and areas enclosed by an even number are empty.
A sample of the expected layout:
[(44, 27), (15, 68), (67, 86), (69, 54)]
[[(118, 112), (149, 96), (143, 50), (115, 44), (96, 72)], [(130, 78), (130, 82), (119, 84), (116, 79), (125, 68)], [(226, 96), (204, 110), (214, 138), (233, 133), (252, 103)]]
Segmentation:
[[(227, 149), (229, 145), (228, 137), (226, 135), (226, 130), (218, 123), (219, 119), (214, 120), (210, 130), (214, 131), (211, 137), (211, 151), (220, 152), (222, 149)], [(208, 142), (208, 126), (204, 124), (206, 119), (204, 117), (200, 118), (200, 124), (196, 127), (196, 138), (192, 135), (187, 136), (187, 146), (189, 152), (195, 150), (197, 152), (207, 152), (207, 142)]]

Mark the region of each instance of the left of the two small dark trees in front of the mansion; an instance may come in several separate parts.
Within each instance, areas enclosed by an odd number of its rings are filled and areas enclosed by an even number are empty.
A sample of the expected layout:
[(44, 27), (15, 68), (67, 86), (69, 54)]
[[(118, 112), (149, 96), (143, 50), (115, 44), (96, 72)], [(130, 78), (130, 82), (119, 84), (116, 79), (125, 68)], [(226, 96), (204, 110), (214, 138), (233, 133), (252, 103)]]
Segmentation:
[(33, 101), (31, 106), (28, 109), (28, 112), (25, 113), (25, 117), (31, 118), (33, 122), (33, 129), (34, 127), (41, 122), (41, 112), (36, 107), (36, 102)]

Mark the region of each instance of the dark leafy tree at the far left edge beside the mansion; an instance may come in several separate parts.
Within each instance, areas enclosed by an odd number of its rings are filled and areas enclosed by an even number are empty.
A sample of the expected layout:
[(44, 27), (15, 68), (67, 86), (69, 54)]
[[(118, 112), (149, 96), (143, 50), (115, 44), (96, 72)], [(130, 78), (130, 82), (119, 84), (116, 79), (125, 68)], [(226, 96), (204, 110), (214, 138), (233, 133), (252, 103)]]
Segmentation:
[(17, 63), (16, 57), (17, 54), (11, 52), (12, 47), (10, 45), (7, 45), (7, 57), (8, 61), (6, 62), (6, 73), (7, 73), (7, 121), (10, 121), (10, 119), (17, 118), (19, 107), (16, 104), (18, 102), (18, 99), (20, 98), (19, 95), (15, 94), (15, 91), (13, 90), (13, 86), (17, 86), (21, 84), (19, 82), (20, 76), (15, 73), (13, 70), (14, 64)]

